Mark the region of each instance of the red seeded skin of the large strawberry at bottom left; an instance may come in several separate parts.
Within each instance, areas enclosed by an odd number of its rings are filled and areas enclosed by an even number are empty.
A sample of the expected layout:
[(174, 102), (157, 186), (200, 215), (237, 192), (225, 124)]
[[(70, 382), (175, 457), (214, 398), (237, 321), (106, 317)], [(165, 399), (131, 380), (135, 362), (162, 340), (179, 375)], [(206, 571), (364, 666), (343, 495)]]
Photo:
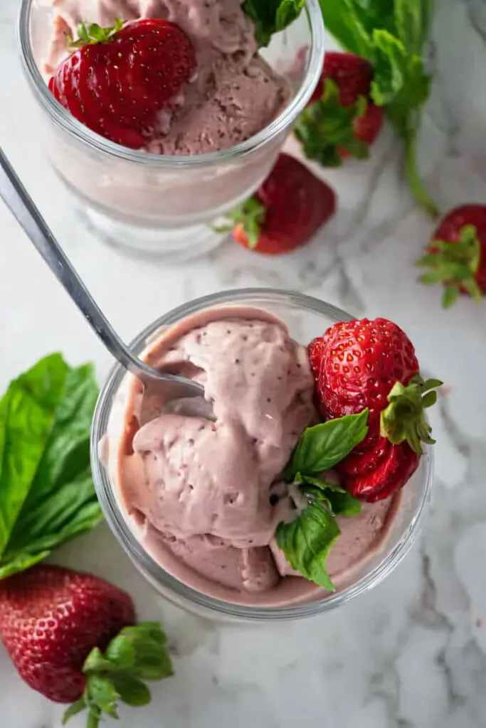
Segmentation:
[(0, 582), (0, 638), (26, 683), (55, 703), (85, 688), (82, 666), (136, 621), (130, 596), (103, 579), (33, 566)]

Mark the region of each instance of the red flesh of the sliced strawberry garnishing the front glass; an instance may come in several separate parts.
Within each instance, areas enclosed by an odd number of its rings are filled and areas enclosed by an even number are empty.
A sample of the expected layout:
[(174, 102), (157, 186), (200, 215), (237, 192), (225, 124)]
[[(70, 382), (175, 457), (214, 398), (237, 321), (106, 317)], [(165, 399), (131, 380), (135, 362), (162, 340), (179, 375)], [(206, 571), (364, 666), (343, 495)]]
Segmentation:
[(368, 435), (337, 465), (343, 487), (369, 502), (407, 483), (420, 457), (404, 442), (380, 436), (380, 414), (396, 381), (419, 373), (415, 349), (404, 331), (383, 318), (337, 323), (309, 345), (318, 408), (325, 419), (369, 408)]

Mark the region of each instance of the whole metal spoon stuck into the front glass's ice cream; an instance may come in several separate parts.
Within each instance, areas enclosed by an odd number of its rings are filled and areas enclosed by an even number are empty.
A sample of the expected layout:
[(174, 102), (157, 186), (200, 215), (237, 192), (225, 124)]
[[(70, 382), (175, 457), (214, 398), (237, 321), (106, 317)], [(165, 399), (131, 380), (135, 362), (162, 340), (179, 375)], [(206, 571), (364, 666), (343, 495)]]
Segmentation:
[[(84, 314), (95, 333), (98, 334), (109, 352), (119, 363), (135, 374), (144, 383), (144, 387), (162, 384), (163, 400), (187, 399), (190, 397), (204, 397), (204, 388), (191, 379), (182, 376), (166, 374), (152, 368), (139, 359), (126, 344), (119, 338), (111, 327), (93, 296), (79, 278), (71, 262), (63, 253), (62, 248), (55, 240), (47, 223), (42, 218), (36, 205), (26, 191), (17, 174), (10, 165), (7, 157), (0, 149), (0, 197), (9, 210), (28, 234), (31, 242), (50, 267), (55, 277), (63, 285), (64, 290), (71, 296), (79, 310)], [(195, 403), (196, 404), (196, 403)], [(195, 414), (200, 412), (200, 403), (195, 408)], [(190, 414), (190, 413), (188, 413)]]

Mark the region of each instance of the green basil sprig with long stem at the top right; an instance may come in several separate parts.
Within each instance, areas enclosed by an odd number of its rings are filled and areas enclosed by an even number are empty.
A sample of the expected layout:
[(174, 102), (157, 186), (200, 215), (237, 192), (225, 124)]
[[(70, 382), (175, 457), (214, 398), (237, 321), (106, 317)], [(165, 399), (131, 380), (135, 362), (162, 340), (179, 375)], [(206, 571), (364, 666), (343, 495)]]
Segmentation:
[(431, 1), (320, 0), (324, 25), (347, 51), (371, 64), (369, 95), (383, 107), (404, 144), (404, 170), (418, 205), (436, 217), (438, 210), (420, 178), (417, 138), (420, 111), (431, 90), (423, 50), (431, 23)]

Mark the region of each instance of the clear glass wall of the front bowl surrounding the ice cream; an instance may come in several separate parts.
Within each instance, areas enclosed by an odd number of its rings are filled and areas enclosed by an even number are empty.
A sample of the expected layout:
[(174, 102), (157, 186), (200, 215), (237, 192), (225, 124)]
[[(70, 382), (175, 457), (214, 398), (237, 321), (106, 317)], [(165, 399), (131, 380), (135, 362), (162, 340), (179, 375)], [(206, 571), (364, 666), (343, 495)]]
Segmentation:
[[(179, 306), (163, 315), (137, 336), (131, 344), (133, 351), (140, 355), (160, 327), (173, 325), (190, 314), (222, 304), (239, 304), (267, 309), (286, 323), (290, 335), (294, 339), (305, 344), (315, 336), (321, 336), (326, 328), (337, 321), (348, 321), (352, 318), (324, 301), (300, 293), (277, 292), (270, 289), (230, 290), (216, 293), (213, 296), (197, 298), (195, 301), (189, 301), (188, 304)], [(328, 609), (335, 609), (377, 585), (396, 568), (415, 541), (431, 491), (432, 453), (430, 448), (427, 448), (420, 460), (418, 470), (402, 491), (399, 511), (383, 546), (358, 566), (358, 569), (350, 575), (348, 582), (344, 582), (337, 592), (326, 594), (316, 601), (306, 604), (266, 607), (221, 601), (188, 587), (162, 569), (135, 537), (129, 519), (125, 518), (119, 506), (118, 494), (98, 456), (98, 443), (106, 434), (111, 412), (114, 405), (117, 405), (117, 393), (125, 375), (126, 372), (121, 365), (114, 366), (101, 390), (96, 406), (91, 436), (91, 461), (95, 488), (106, 521), (125, 552), (155, 589), (175, 604), (200, 616), (217, 620), (274, 622), (310, 617), (326, 612)]]

